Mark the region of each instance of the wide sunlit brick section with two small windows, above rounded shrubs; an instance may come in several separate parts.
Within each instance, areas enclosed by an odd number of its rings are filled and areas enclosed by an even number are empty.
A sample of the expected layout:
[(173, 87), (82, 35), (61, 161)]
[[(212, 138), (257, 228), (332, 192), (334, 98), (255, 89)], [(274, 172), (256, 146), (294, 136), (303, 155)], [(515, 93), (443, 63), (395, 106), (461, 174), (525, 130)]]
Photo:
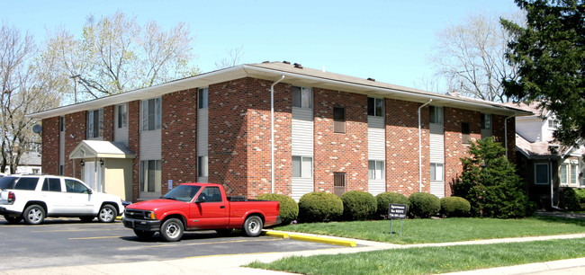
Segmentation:
[[(315, 191), (333, 192), (333, 173), (346, 173), (346, 191), (368, 189), (367, 96), (313, 89)], [(333, 132), (333, 107), (346, 109), (346, 133)]]

